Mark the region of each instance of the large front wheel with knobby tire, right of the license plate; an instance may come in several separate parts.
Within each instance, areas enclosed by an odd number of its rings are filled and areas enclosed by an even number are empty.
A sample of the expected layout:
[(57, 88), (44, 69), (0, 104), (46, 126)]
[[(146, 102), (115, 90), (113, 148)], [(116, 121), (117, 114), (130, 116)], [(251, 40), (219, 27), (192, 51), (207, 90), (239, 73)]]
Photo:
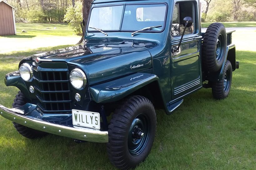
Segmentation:
[(156, 128), (153, 104), (143, 96), (127, 98), (116, 109), (109, 124), (107, 153), (120, 169), (135, 168), (150, 153)]

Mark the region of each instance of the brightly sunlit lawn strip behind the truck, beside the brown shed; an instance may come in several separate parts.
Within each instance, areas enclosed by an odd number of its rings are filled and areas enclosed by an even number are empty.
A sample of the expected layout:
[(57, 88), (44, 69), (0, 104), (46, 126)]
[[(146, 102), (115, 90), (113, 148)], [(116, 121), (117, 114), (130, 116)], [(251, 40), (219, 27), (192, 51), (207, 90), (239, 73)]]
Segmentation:
[[(0, 36), (0, 54), (76, 44), (81, 38), (65, 24), (16, 23), (16, 27), (17, 35)], [(22, 30), (27, 32), (23, 33)]]

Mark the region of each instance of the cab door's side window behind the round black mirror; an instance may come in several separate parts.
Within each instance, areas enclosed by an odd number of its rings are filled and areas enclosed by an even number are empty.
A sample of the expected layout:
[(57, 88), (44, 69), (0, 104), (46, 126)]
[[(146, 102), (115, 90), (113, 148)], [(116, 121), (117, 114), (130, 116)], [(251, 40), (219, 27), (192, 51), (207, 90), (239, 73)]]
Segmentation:
[(182, 24), (184, 17), (192, 17), (193, 24), (191, 27), (186, 28), (185, 34), (194, 34), (195, 32), (195, 6), (193, 2), (179, 2), (175, 4), (173, 17), (172, 17), (172, 27), (171, 36), (181, 36), (184, 31), (184, 26)]

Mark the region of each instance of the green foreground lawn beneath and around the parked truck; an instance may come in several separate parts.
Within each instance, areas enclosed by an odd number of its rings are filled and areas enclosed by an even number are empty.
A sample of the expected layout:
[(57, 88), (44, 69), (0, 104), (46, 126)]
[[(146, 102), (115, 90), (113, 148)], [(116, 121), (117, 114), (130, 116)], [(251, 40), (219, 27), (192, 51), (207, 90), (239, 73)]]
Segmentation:
[[(249, 39), (248, 39), (249, 38)], [(254, 170), (256, 167), (256, 49), (255, 31), (237, 31), (240, 68), (233, 72), (232, 87), (225, 100), (214, 100), (211, 89), (186, 97), (168, 116), (157, 110), (155, 142), (150, 155), (136, 170)], [(11, 107), (17, 88), (6, 87), (3, 77), (18, 68), (20, 59), (40, 48), (0, 55), (1, 104)], [(248, 51), (250, 50), (250, 51)], [(110, 170), (104, 143), (76, 144), (70, 138), (48, 135), (27, 139), (0, 117), (1, 170)]]

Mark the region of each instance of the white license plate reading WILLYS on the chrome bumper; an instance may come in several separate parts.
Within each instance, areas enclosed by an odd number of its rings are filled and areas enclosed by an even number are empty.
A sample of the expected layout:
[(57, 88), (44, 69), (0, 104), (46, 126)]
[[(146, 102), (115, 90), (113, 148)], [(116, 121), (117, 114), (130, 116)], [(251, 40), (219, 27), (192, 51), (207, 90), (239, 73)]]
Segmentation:
[(72, 110), (72, 121), (75, 126), (100, 129), (100, 114), (83, 110)]

